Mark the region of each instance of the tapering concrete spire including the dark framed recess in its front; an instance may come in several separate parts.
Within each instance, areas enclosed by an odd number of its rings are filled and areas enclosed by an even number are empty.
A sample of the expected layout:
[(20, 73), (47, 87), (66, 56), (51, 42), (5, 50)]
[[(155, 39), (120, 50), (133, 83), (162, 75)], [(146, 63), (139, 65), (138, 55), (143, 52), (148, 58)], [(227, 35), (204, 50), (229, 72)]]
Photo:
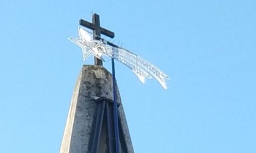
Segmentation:
[[(108, 115), (110, 109), (107, 108), (111, 107), (113, 100), (112, 90), (112, 75), (104, 67), (87, 65), (82, 67), (73, 92), (60, 153), (110, 152), (109, 144), (113, 138), (108, 133), (113, 121), (105, 116)], [(120, 127), (119, 152), (133, 153), (119, 91), (117, 100)]]

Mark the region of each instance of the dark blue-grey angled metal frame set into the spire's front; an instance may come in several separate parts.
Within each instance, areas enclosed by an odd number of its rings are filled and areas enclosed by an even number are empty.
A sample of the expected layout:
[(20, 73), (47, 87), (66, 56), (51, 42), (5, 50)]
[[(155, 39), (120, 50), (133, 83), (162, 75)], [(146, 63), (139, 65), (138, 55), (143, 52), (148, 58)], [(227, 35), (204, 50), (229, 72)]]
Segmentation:
[[(94, 114), (94, 122), (93, 126), (91, 127), (91, 137), (89, 142), (88, 152), (90, 153), (99, 153), (102, 150), (100, 146), (102, 137), (102, 132), (107, 132), (107, 138), (104, 140), (107, 144), (107, 152), (114, 153), (116, 152), (116, 143), (115, 143), (115, 125), (114, 125), (114, 116), (113, 116), (113, 101), (109, 100), (108, 98), (101, 97), (96, 100), (97, 107)], [(118, 115), (119, 117), (119, 115)], [(104, 127), (105, 126), (105, 127)], [(127, 144), (124, 140), (123, 128), (121, 126), (121, 122), (118, 120), (119, 126), (119, 149), (120, 152), (127, 152)], [(104, 130), (105, 131), (102, 131)]]

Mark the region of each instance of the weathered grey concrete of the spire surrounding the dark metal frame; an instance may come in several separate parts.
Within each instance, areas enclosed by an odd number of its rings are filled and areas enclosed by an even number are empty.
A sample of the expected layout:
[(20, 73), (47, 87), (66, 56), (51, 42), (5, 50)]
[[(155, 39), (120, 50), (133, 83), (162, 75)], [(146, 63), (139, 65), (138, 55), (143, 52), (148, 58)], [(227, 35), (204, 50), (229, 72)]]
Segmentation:
[[(96, 108), (94, 97), (113, 100), (112, 75), (102, 66), (84, 65), (77, 79), (68, 112), (60, 153), (87, 153), (91, 127)], [(129, 153), (133, 153), (132, 141), (118, 91), (119, 118), (123, 125), (124, 139)]]

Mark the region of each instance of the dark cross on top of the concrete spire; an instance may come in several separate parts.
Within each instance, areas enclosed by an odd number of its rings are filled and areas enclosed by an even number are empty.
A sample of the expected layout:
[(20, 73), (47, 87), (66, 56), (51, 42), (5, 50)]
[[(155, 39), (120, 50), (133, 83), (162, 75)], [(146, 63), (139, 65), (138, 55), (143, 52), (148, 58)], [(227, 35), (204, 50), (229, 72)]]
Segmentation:
[[(100, 39), (101, 34), (108, 36), (110, 38), (115, 37), (115, 33), (111, 32), (110, 30), (104, 29), (99, 24), (99, 15), (96, 13), (93, 14), (93, 23), (90, 23), (88, 21), (85, 21), (84, 19), (80, 19), (79, 24), (87, 27), (88, 29), (93, 30), (93, 39)], [(102, 66), (102, 60), (99, 60), (98, 58), (94, 57), (94, 64)]]

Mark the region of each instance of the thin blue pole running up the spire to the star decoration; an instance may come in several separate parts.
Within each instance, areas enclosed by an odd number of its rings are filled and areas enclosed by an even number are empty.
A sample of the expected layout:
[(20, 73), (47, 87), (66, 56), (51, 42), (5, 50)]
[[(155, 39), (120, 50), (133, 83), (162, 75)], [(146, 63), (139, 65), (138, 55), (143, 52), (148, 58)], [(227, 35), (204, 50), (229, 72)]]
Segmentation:
[(115, 141), (116, 141), (116, 153), (119, 153), (119, 130), (118, 130), (118, 106), (116, 101), (116, 75), (115, 75), (115, 62), (112, 58), (112, 80), (113, 80), (113, 99), (114, 99), (114, 123), (115, 123)]

